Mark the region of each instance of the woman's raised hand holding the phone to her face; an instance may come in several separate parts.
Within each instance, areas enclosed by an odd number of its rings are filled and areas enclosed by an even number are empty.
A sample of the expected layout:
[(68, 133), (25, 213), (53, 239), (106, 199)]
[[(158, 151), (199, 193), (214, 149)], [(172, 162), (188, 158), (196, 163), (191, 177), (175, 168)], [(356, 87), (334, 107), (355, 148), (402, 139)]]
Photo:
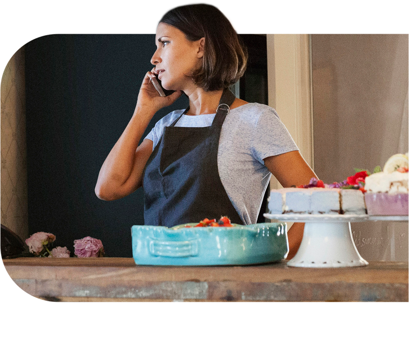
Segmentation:
[(172, 105), (172, 103), (182, 95), (182, 92), (174, 91), (167, 96), (161, 96), (161, 94), (159, 94), (158, 90), (156, 89), (157, 86), (155, 87), (153, 82), (156, 82), (155, 85), (160, 86), (160, 84), (157, 83), (155, 68), (147, 72), (145, 77), (143, 78), (142, 85), (138, 94), (136, 109), (143, 108), (144, 110), (154, 111), (154, 115), (163, 107)]

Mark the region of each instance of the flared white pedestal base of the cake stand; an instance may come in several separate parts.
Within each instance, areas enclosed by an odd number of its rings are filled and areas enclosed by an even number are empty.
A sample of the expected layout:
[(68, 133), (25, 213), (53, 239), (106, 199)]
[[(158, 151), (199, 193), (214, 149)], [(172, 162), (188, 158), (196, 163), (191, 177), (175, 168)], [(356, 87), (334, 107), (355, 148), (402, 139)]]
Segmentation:
[(305, 222), (297, 254), (288, 261), (294, 267), (366, 266), (352, 239), (351, 223), (346, 221)]

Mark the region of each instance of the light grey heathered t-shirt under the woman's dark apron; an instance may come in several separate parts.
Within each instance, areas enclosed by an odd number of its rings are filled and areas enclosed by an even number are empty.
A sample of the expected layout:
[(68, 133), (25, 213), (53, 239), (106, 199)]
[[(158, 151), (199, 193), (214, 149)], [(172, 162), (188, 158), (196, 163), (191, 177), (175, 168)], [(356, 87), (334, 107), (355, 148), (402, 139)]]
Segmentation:
[[(175, 121), (183, 111), (173, 111), (155, 124), (146, 136), (146, 139), (153, 141), (153, 148), (160, 140), (164, 127)], [(215, 114), (184, 115), (176, 126), (210, 126), (214, 116)], [(247, 103), (227, 114), (219, 140), (219, 174), (230, 201), (245, 224), (256, 223), (271, 177), (263, 159), (294, 150), (298, 150), (297, 145), (271, 107)]]

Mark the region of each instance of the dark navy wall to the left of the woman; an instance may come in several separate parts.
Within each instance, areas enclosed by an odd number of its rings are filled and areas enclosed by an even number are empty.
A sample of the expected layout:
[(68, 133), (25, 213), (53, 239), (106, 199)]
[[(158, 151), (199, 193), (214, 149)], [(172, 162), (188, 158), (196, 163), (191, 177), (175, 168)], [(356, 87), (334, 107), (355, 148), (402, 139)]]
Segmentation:
[[(98, 173), (134, 111), (152, 69), (155, 35), (51, 35), (26, 50), (29, 232), (101, 239), (109, 256), (131, 257), (131, 226), (143, 225), (141, 189), (116, 201), (94, 194)], [(187, 98), (159, 111), (187, 106)]]

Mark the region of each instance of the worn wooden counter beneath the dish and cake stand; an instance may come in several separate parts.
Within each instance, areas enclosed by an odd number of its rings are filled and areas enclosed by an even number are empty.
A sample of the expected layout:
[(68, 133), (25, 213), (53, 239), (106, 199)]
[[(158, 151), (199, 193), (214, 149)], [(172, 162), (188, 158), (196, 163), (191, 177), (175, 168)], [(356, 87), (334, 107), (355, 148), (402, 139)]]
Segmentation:
[(296, 268), (137, 266), (132, 258), (3, 260), (27, 293), (51, 301), (408, 301), (408, 264)]

